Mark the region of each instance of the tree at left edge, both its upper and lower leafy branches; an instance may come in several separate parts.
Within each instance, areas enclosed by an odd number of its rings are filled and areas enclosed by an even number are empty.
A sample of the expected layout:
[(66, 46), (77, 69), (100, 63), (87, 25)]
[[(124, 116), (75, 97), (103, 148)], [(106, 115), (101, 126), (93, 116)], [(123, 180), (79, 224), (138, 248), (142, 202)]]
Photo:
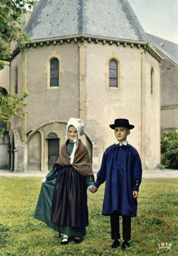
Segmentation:
[[(25, 22), (21, 21), (22, 14), (26, 13), (26, 7), (30, 9), (32, 0), (0, 0), (0, 70), (4, 68), (4, 60), (11, 59), (10, 44), (15, 41), (19, 50), (25, 50), (25, 43), (29, 35), (23, 31)], [(11, 121), (15, 115), (23, 115), (23, 107), (26, 106), (27, 93), (18, 97), (18, 94), (5, 93), (0, 87), (0, 137), (3, 136), (5, 124)]]

